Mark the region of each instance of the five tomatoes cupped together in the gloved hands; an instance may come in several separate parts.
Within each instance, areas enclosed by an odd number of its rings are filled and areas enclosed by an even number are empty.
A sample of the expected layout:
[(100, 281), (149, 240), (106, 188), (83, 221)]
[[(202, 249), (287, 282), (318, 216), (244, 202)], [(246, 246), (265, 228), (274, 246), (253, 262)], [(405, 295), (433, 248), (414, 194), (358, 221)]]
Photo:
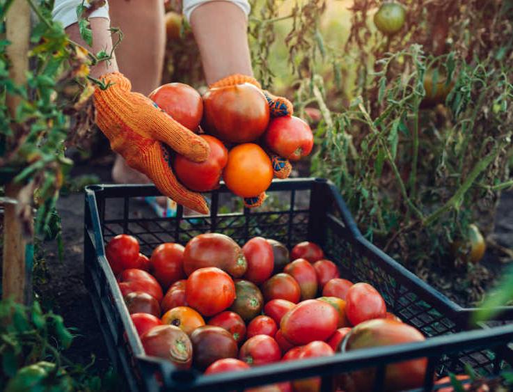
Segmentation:
[(191, 86), (170, 83), (149, 97), (210, 146), (205, 162), (173, 158), (178, 180), (191, 191), (212, 191), (222, 176), (237, 196), (256, 198), (271, 185), (270, 154), (297, 161), (313, 148), (308, 124), (294, 116), (271, 118), (264, 93), (253, 84), (210, 88), (201, 97)]

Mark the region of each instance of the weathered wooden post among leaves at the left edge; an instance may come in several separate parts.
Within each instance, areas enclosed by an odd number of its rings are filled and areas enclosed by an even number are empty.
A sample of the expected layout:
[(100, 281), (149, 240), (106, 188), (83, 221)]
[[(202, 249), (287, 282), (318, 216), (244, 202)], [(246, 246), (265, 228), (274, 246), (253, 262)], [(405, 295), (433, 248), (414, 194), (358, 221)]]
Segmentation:
[[(13, 1), (6, 15), (6, 38), (11, 42), (6, 48), (11, 62), (9, 72), (18, 85), (26, 84), (26, 71), (29, 70), (30, 16), (30, 5), (26, 0)], [(7, 96), (7, 106), (13, 117), (19, 102), (19, 97)], [(17, 200), (20, 185), (10, 183), (5, 189), (7, 198)], [(32, 297), (31, 242), (23, 235), (22, 225), (16, 216), (16, 205), (5, 203), (4, 206), (2, 297), (28, 304)]]

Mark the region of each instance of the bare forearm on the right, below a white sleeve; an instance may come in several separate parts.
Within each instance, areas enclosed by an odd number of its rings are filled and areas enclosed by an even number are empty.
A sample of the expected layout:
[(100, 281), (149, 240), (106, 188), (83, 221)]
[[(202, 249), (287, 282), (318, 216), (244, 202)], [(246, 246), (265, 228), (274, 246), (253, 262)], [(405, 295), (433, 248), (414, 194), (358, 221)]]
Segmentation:
[(244, 12), (227, 1), (212, 1), (191, 15), (207, 84), (232, 74), (253, 75)]

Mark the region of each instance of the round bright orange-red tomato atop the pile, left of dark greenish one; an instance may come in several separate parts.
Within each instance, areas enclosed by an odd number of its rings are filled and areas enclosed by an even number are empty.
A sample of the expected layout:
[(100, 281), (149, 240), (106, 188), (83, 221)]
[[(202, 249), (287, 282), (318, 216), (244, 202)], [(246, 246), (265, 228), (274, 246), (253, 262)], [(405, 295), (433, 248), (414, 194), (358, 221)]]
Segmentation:
[(221, 313), (235, 299), (235, 284), (216, 267), (196, 269), (185, 283), (185, 300), (205, 316)]

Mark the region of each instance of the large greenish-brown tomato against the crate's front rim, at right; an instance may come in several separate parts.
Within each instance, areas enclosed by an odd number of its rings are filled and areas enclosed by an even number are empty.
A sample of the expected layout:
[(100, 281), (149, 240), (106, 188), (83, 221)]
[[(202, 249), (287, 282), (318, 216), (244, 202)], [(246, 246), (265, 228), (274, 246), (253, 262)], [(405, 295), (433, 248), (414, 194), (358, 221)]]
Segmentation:
[[(357, 283), (358, 284), (358, 283)], [(368, 347), (399, 345), (402, 343), (421, 342), (423, 334), (408, 324), (393, 320), (376, 319), (358, 324), (346, 336), (345, 352), (361, 350)], [(411, 359), (409, 361), (389, 363), (386, 366), (384, 391), (404, 391), (423, 386), (427, 359)], [(374, 385), (376, 370), (368, 368), (349, 374), (355, 391), (371, 391)]]

